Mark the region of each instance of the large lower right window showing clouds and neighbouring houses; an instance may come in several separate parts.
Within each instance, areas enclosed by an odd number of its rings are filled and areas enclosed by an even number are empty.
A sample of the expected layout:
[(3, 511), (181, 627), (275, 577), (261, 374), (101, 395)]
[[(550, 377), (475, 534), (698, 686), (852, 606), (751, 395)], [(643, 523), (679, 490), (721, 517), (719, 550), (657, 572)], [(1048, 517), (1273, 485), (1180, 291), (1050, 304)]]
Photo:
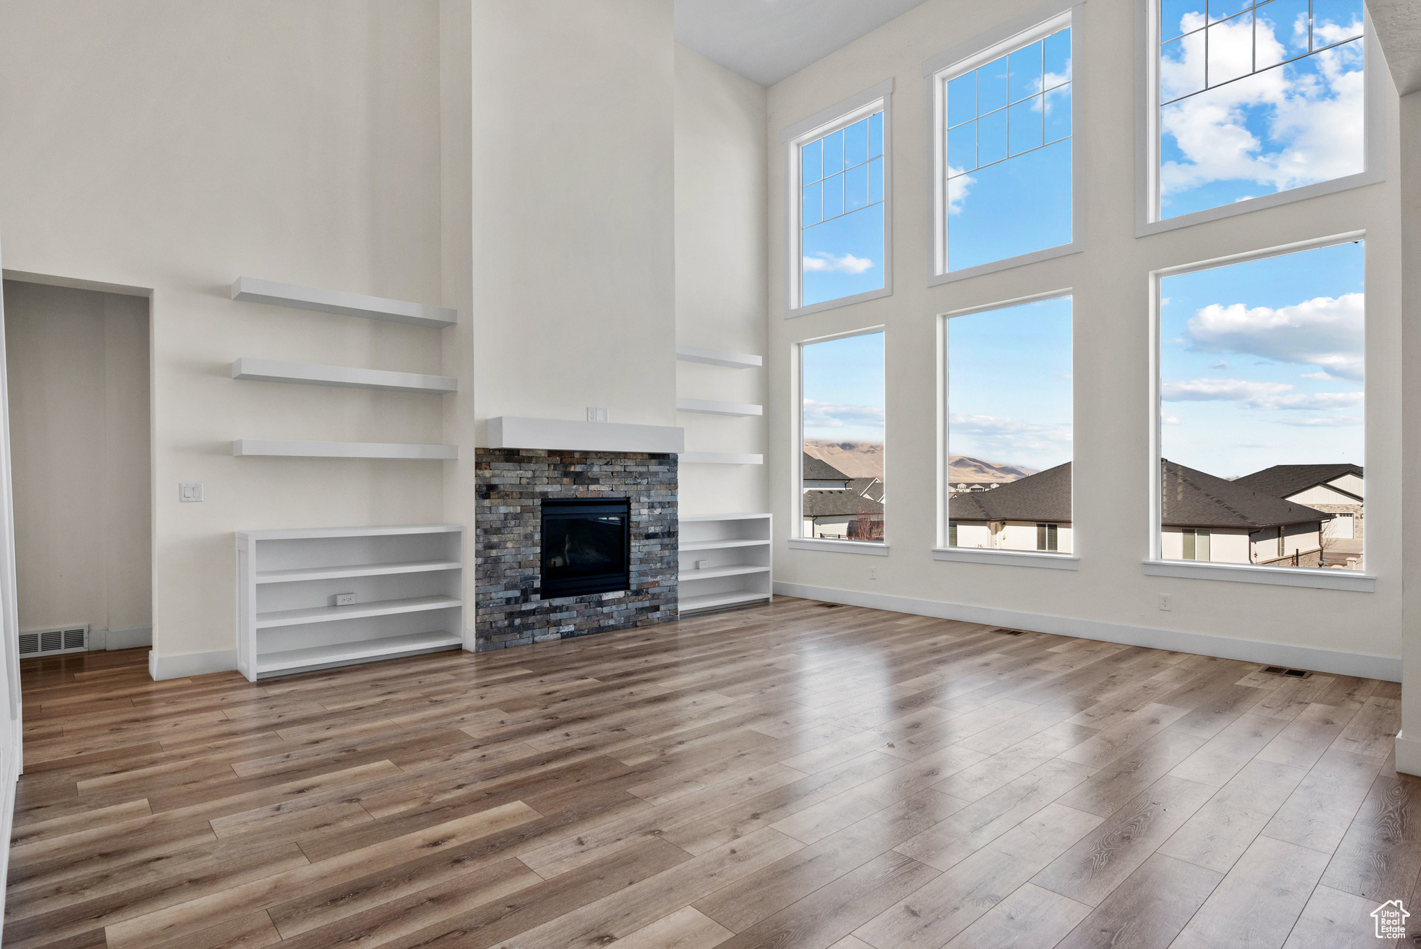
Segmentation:
[[(1277, 0), (1273, 0), (1275, 3)], [(1363, 569), (1364, 246), (1158, 280), (1161, 559)]]

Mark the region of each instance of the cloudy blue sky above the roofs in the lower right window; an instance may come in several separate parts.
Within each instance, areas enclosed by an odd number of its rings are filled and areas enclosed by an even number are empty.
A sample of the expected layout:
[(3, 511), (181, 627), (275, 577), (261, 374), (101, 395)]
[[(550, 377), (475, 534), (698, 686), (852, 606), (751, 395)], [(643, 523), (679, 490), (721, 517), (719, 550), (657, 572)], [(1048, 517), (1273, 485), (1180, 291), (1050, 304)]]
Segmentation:
[(1363, 460), (1364, 248), (1160, 282), (1161, 447), (1221, 478)]

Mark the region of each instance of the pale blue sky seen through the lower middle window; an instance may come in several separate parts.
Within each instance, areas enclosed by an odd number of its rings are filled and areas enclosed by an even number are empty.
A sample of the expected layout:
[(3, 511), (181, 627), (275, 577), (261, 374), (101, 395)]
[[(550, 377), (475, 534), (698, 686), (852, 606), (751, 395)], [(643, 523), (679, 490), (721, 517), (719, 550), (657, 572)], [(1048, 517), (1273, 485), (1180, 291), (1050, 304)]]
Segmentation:
[(1071, 460), (1071, 300), (948, 320), (948, 454), (1044, 470)]

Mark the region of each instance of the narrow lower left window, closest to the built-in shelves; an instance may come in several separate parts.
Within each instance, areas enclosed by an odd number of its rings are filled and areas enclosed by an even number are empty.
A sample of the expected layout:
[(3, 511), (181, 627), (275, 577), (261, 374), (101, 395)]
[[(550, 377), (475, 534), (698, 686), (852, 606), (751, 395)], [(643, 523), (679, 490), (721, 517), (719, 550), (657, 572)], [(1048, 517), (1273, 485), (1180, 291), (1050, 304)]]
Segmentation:
[(884, 541), (884, 334), (800, 347), (800, 536)]

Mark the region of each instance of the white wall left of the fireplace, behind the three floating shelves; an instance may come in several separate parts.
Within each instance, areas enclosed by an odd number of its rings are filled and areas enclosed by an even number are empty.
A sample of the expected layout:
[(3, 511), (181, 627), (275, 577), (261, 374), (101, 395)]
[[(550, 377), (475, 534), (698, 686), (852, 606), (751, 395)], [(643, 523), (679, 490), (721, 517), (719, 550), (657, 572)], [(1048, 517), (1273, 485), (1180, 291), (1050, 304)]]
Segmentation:
[[(232, 667), (233, 531), (443, 515), (439, 462), (230, 450), (433, 442), (438, 398), (229, 370), (260, 356), (439, 373), (441, 332), (227, 289), (249, 275), (441, 302), (438, 4), (0, 0), (0, 18), (6, 266), (153, 290), (153, 652)], [(179, 481), (205, 482), (206, 502), (179, 504)]]

